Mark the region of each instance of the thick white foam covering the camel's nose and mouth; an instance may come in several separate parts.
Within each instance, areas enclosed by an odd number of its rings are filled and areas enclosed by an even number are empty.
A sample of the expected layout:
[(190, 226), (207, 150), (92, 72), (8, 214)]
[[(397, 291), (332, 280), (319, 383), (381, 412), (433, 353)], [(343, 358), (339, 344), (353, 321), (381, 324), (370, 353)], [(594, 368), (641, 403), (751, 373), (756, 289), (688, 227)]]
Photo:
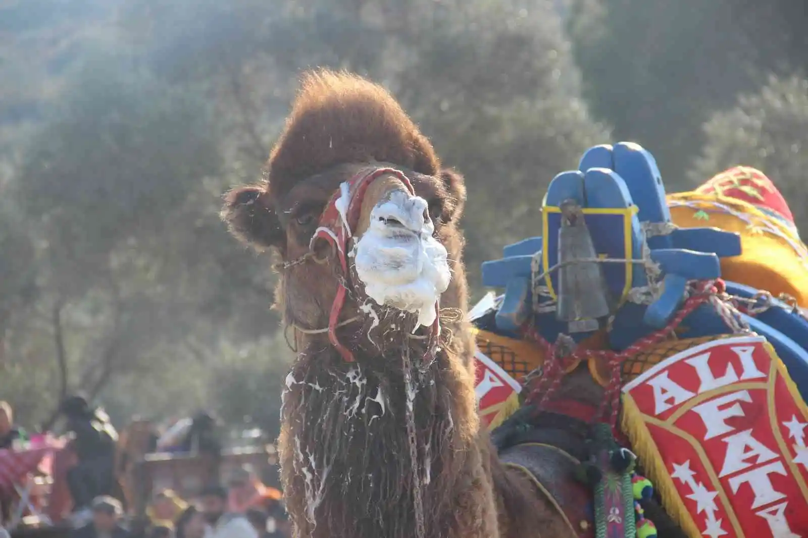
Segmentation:
[(446, 249), (432, 237), (435, 226), (424, 218), (426, 210), (423, 198), (393, 191), (373, 208), (355, 247), (356, 273), (368, 296), (418, 313), (419, 326), (435, 322), (435, 305), (451, 280)]

